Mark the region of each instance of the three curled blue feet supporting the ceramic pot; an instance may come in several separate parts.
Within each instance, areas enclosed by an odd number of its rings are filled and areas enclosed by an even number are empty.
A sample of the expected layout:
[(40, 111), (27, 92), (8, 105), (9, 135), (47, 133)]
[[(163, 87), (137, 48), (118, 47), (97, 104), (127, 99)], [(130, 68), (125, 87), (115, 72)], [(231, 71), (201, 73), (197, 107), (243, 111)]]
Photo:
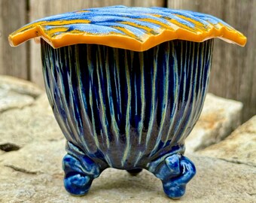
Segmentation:
[[(93, 162), (78, 147), (72, 145), (72, 151), (63, 158), (63, 170), (65, 171), (64, 186), (72, 195), (86, 194), (105, 166)], [(73, 151), (75, 150), (75, 151)], [(148, 168), (163, 183), (163, 191), (169, 198), (180, 198), (184, 195), (186, 184), (196, 174), (196, 168), (187, 157), (174, 153), (169, 156), (160, 157), (148, 164)], [(136, 175), (142, 168), (127, 170), (130, 174)]]

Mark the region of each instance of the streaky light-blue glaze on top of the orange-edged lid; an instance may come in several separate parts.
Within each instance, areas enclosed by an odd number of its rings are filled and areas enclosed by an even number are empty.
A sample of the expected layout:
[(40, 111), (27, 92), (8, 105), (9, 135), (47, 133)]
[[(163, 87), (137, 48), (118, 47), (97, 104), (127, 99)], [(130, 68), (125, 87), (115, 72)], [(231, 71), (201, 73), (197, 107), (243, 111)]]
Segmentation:
[[(187, 17), (187, 20), (185, 20), (184, 17)], [(78, 21), (62, 25), (62, 23), (60, 23), (62, 20), (89, 20), (90, 23), (78, 23)], [(125, 6), (88, 8), (81, 11), (45, 17), (33, 23), (42, 22), (41, 24), (44, 25), (43, 22), (47, 22), (47, 24), (45, 24), (46, 32), (51, 29), (56, 29), (56, 26), (58, 26), (59, 28), (66, 28), (65, 33), (76, 31), (91, 33), (93, 35), (108, 35), (111, 34), (111, 32), (114, 32), (113, 34), (126, 35), (126, 32), (120, 29), (124, 28), (136, 35), (137, 38), (142, 38), (147, 32), (151, 32), (152, 34), (154, 31), (154, 35), (160, 34), (160, 29), (163, 28), (163, 25), (172, 27), (169, 20), (175, 20), (177, 24), (180, 23), (186, 29), (193, 30), (194, 32), (203, 32), (203, 27), (206, 29), (218, 23), (227, 26), (229, 29), (233, 29), (217, 17), (200, 14), (194, 11), (171, 10), (169, 8), (127, 8)], [(192, 20), (194, 20), (194, 23)], [(51, 25), (50, 22), (54, 22), (54, 24)], [(59, 22), (59, 24), (55, 22)], [(197, 27), (195, 22), (201, 23), (201, 26)], [(135, 23), (137, 27), (129, 26), (127, 23)], [(149, 30), (147, 31), (147, 29), (143, 27), (149, 28)], [(54, 32), (53, 36), (60, 34), (62, 34), (62, 32)]]

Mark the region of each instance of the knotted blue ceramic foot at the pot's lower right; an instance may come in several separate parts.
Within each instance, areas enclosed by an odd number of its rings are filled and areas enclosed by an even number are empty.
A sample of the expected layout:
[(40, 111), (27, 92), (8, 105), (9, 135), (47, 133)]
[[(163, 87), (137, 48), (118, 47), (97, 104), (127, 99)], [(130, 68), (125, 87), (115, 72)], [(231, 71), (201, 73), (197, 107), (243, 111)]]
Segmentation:
[(196, 168), (187, 157), (173, 154), (160, 163), (153, 172), (163, 183), (163, 190), (169, 198), (181, 198), (186, 184), (196, 174)]

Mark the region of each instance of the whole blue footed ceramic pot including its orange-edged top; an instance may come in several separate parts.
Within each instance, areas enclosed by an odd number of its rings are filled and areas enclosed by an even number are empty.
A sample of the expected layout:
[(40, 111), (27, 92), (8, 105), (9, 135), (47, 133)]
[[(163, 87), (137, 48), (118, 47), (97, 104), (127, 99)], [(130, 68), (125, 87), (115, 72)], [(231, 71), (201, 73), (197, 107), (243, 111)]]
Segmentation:
[(9, 41), (35, 37), (67, 139), (67, 191), (84, 195), (105, 168), (144, 168), (170, 198), (184, 195), (196, 173), (184, 140), (203, 108), (213, 38), (244, 46), (245, 36), (207, 14), (114, 6), (46, 17)]

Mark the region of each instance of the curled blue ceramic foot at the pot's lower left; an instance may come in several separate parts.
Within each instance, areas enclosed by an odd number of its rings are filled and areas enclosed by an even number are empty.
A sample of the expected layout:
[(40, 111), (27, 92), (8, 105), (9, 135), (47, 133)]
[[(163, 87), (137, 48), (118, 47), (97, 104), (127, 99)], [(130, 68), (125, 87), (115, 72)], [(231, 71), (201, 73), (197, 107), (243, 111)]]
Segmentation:
[(73, 153), (68, 153), (62, 161), (63, 170), (65, 171), (64, 186), (72, 195), (84, 195), (89, 191), (93, 179), (99, 177), (102, 170), (100, 170), (99, 165), (85, 156), (78, 148), (74, 153), (74, 148), (73, 145)]

